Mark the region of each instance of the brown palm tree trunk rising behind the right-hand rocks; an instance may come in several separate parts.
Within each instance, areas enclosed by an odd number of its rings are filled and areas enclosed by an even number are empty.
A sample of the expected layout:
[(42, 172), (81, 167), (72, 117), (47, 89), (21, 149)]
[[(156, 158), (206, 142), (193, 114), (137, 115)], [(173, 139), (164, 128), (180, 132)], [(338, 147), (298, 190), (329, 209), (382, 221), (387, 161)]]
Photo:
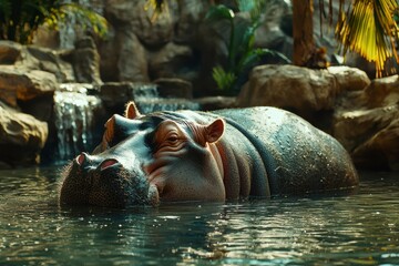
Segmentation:
[(314, 51), (313, 0), (293, 0), (293, 37), (295, 65), (304, 65)]

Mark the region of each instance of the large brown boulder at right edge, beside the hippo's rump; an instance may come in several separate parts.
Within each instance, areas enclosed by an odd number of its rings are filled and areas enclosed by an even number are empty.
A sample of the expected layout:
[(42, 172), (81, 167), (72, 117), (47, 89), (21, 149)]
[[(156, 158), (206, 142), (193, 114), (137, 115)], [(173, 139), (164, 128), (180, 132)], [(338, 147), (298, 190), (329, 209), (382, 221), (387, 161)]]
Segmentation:
[(399, 75), (374, 80), (350, 93), (335, 112), (334, 136), (358, 167), (398, 171)]

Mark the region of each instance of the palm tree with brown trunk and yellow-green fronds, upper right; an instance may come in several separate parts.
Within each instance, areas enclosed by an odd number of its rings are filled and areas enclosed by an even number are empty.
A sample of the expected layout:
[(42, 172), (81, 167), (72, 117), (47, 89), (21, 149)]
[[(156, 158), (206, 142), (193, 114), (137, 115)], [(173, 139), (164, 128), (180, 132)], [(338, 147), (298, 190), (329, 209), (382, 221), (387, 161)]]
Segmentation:
[[(332, 0), (329, 0), (331, 4)], [(293, 6), (294, 63), (301, 65), (314, 49), (313, 0), (294, 0)], [(339, 0), (339, 20), (336, 25), (336, 38), (344, 54), (350, 50), (375, 62), (377, 76), (397, 73), (397, 66), (385, 71), (387, 60), (393, 58), (399, 63), (396, 52), (399, 30), (393, 19), (398, 11), (397, 0), (354, 0), (347, 11), (344, 6), (345, 0)]]

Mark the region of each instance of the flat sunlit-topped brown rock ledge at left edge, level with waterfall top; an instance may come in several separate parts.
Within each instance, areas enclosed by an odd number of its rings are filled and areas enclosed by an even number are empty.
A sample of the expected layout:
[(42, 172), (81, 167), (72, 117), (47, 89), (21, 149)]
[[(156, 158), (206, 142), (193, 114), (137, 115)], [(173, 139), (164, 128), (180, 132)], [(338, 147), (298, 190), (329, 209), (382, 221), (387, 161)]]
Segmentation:
[(0, 100), (11, 106), (17, 106), (17, 101), (28, 101), (39, 95), (53, 93), (59, 88), (54, 74), (32, 70), (0, 66)]

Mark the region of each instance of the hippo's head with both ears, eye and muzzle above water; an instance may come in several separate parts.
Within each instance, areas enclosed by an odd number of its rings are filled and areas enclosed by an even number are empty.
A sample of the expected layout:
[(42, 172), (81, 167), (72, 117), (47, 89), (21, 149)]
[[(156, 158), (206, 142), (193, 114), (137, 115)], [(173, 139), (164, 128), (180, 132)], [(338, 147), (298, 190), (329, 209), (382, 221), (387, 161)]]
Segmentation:
[(125, 116), (105, 123), (102, 143), (65, 167), (60, 204), (125, 207), (162, 201), (223, 201), (223, 164), (217, 141), (224, 121), (197, 123), (187, 115), (141, 115), (129, 103)]

